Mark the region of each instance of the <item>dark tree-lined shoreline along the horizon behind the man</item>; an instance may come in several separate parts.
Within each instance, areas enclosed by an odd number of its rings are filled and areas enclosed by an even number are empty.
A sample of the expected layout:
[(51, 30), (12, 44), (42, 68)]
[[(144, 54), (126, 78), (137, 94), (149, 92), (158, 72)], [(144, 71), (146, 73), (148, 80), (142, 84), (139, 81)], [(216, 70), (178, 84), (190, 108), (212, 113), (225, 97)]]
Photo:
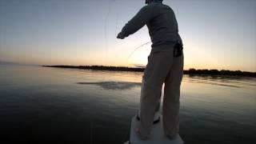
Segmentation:
[[(126, 66), (43, 66), (43, 67), (53, 67), (62, 69), (82, 69), (82, 70), (109, 70), (109, 71), (132, 71), (132, 72), (143, 72), (145, 68), (136, 67), (126, 67)], [(256, 72), (248, 72), (241, 70), (183, 70), (183, 74), (190, 75), (222, 75), (222, 76), (246, 76), (256, 78)]]

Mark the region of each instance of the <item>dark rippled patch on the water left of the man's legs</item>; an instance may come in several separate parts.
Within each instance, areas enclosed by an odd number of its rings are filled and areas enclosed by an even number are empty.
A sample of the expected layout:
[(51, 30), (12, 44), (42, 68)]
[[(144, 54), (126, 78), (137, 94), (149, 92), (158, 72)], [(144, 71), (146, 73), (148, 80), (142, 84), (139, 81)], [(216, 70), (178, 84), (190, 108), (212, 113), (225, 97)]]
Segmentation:
[(142, 85), (140, 82), (78, 82), (78, 84), (98, 85), (105, 90), (130, 90)]

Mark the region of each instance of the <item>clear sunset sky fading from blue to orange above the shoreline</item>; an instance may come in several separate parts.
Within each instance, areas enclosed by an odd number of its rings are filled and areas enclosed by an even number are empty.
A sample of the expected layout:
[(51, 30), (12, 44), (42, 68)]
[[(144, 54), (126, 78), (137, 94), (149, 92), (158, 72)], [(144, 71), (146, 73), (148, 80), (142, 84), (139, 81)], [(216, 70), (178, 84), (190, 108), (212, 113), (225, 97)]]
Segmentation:
[[(178, 20), (184, 69), (256, 71), (256, 0), (164, 0)], [(146, 26), (116, 35), (144, 0), (0, 0), (0, 61), (146, 65)]]

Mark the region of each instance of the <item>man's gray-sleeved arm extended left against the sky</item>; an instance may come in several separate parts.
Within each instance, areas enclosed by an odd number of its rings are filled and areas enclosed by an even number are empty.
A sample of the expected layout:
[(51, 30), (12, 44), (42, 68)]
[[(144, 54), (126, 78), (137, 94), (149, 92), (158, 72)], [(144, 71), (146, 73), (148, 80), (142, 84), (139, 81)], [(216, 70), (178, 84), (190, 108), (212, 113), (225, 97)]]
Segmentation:
[(136, 31), (141, 29), (146, 25), (146, 22), (149, 22), (153, 17), (153, 10), (150, 9), (150, 6), (144, 6), (141, 10), (138, 11), (138, 14), (134, 16), (129, 22), (126, 23), (126, 26), (122, 28), (122, 31), (118, 34), (118, 38), (126, 38), (130, 34), (134, 34)]

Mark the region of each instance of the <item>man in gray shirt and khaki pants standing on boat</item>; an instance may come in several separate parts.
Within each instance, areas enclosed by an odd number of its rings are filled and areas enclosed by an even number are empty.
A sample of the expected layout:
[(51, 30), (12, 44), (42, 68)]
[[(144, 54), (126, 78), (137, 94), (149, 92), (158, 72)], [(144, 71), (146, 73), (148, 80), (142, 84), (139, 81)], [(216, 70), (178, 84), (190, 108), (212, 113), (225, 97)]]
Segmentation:
[(146, 6), (139, 10), (117, 38), (123, 39), (147, 26), (152, 41), (152, 50), (142, 78), (141, 114), (136, 130), (143, 140), (150, 138), (154, 111), (159, 94), (164, 87), (162, 106), (163, 129), (167, 138), (178, 135), (178, 114), (180, 85), (183, 74), (182, 39), (174, 11), (162, 0), (146, 0)]

